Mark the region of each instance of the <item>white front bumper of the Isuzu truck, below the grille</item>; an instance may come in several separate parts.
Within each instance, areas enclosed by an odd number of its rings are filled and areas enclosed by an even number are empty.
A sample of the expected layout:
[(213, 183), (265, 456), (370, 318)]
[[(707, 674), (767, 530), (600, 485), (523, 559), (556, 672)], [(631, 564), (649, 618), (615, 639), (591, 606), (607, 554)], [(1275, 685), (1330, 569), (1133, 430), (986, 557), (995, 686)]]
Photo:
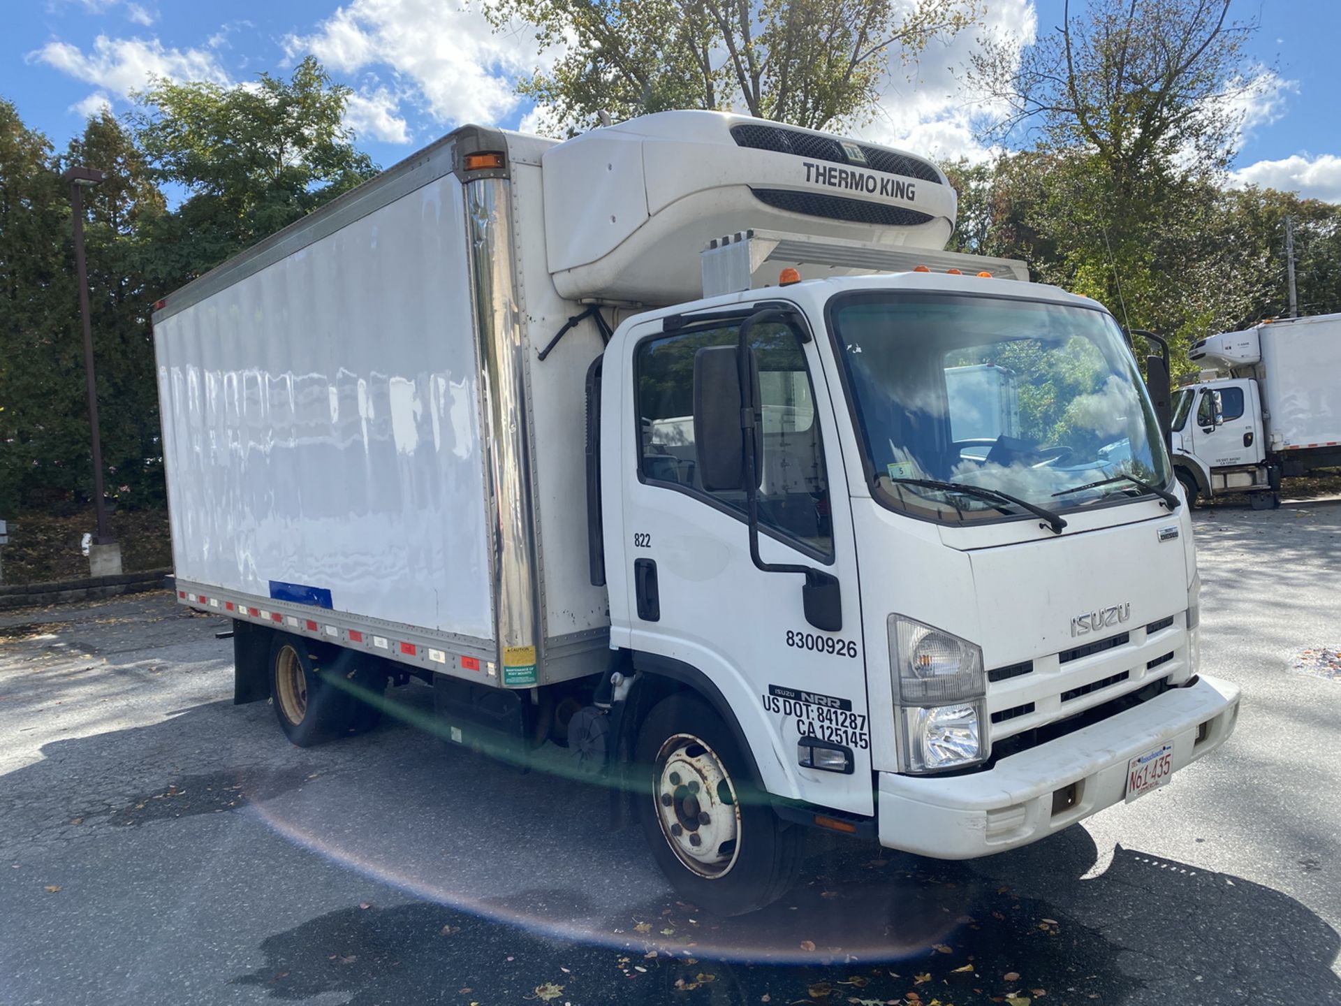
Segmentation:
[(1121, 801), (1126, 763), (1136, 755), (1172, 743), (1176, 775), (1224, 743), (1238, 712), (1238, 685), (1200, 677), (1003, 758), (988, 771), (940, 778), (880, 773), (880, 844), (941, 860), (1027, 845)]

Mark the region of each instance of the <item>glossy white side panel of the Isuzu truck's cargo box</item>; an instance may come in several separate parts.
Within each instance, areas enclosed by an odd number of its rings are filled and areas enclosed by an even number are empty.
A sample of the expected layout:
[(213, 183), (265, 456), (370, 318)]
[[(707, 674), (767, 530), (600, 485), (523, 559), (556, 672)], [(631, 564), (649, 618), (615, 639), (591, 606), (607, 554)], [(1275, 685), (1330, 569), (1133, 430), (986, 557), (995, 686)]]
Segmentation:
[(445, 176), (154, 330), (186, 579), (492, 638), (463, 192)]

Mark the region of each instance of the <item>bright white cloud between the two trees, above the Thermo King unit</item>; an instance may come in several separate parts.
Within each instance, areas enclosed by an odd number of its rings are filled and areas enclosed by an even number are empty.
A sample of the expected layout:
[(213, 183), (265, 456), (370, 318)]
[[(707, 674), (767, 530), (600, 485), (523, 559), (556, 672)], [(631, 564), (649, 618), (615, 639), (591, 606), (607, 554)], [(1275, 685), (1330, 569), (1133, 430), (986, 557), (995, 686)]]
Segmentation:
[(864, 138), (901, 146), (935, 160), (983, 161), (995, 152), (975, 137), (976, 126), (1004, 114), (964, 80), (970, 58), (991, 38), (1022, 51), (1033, 44), (1038, 16), (1033, 0), (987, 5), (986, 24), (948, 42), (932, 42), (907, 72), (892, 60), (890, 80), (876, 118), (856, 130)]

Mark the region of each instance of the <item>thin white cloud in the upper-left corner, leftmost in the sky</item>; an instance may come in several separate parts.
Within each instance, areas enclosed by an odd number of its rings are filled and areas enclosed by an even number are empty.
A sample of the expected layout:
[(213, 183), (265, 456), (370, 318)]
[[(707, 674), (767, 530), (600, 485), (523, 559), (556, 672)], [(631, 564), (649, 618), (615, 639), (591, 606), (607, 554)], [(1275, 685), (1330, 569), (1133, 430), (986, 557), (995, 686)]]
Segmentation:
[(158, 39), (109, 39), (99, 35), (89, 52), (68, 42), (48, 42), (28, 54), (28, 62), (34, 60), (121, 98), (143, 89), (150, 76), (229, 82), (213, 52), (168, 48)]

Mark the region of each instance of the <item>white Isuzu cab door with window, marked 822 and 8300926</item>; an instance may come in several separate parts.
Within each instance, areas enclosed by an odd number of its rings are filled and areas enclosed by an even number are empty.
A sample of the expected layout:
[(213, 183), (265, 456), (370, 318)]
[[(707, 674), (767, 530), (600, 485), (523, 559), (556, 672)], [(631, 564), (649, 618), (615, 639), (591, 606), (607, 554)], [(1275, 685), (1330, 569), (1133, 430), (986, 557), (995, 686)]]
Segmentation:
[[(776, 302), (774, 302), (776, 303)], [(735, 346), (751, 313), (629, 334), (621, 468), (628, 640), (642, 659), (691, 668), (740, 727), (774, 794), (873, 813), (870, 716), (857, 557), (834, 409), (805, 321), (751, 327), (759, 365), (759, 553), (838, 581), (841, 628), (806, 621), (798, 573), (751, 558), (743, 491), (709, 491), (695, 445), (695, 358)], [(611, 581), (613, 589), (613, 581)], [(618, 618), (611, 609), (618, 630)], [(662, 664), (666, 665), (666, 664)], [(888, 672), (886, 672), (888, 673)], [(803, 767), (798, 740), (850, 754), (846, 771)]]

